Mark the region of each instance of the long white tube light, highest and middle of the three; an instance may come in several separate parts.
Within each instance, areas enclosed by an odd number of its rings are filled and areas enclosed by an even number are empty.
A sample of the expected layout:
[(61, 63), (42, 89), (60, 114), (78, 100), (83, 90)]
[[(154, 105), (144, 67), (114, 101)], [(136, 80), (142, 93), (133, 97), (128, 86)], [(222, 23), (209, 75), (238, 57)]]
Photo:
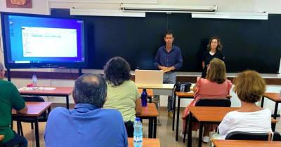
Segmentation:
[(217, 6), (171, 6), (171, 5), (147, 5), (147, 4), (121, 4), (124, 11), (145, 11), (145, 12), (212, 12), (217, 10)]

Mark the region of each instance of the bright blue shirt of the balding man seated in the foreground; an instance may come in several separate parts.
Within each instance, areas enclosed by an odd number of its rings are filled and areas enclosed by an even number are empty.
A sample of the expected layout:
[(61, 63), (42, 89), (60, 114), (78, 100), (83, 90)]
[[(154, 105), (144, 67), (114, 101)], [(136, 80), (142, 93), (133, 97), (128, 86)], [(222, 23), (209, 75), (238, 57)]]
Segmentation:
[(91, 104), (76, 104), (71, 110), (53, 109), (48, 116), (45, 144), (46, 147), (128, 146), (121, 113)]

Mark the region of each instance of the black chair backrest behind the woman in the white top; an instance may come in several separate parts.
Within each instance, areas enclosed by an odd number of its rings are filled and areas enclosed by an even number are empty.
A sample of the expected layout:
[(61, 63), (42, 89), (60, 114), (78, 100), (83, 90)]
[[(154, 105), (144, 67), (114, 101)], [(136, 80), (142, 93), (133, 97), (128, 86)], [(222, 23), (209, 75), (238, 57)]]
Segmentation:
[[(268, 139), (268, 135), (270, 138)], [(248, 132), (230, 132), (226, 136), (226, 140), (256, 140), (256, 141), (268, 141), (271, 139), (271, 133), (248, 133)]]

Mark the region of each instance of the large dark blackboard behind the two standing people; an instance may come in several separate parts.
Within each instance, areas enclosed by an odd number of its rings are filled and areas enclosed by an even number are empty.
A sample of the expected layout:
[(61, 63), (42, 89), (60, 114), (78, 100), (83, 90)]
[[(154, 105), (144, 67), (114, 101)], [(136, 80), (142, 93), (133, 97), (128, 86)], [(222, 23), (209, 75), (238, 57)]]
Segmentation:
[[(53, 9), (51, 15), (69, 15)], [(153, 69), (164, 45), (164, 31), (175, 32), (174, 44), (183, 53), (180, 71), (202, 71), (202, 52), (211, 36), (223, 43), (228, 72), (254, 69), (277, 73), (281, 56), (281, 15), (268, 20), (196, 19), (190, 13), (146, 13), (145, 18), (76, 16), (86, 20), (89, 69), (103, 69), (110, 57), (124, 57), (131, 69)]]

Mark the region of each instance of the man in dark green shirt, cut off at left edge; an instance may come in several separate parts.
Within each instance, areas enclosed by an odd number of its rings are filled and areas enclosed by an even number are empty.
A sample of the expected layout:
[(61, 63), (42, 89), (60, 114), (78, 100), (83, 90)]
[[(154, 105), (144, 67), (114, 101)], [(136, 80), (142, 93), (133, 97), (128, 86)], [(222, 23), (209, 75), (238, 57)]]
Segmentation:
[(0, 62), (0, 134), (4, 134), (2, 141), (4, 146), (27, 146), (27, 139), (21, 137), (11, 130), (11, 111), (17, 110), (17, 113), (27, 113), (25, 101), (20, 96), (18, 89), (8, 81), (4, 80), (5, 70)]

